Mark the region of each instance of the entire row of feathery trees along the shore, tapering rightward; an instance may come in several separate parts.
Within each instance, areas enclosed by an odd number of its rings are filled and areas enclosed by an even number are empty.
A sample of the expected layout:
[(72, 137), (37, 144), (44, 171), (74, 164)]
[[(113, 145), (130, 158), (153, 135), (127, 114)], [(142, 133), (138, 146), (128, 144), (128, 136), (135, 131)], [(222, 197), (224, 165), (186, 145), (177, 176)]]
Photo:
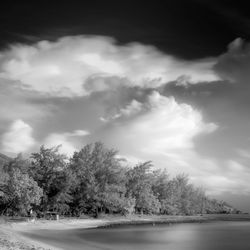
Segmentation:
[(40, 147), (29, 159), (21, 155), (0, 168), (0, 213), (98, 217), (112, 214), (194, 215), (236, 213), (223, 201), (210, 199), (188, 176), (170, 178), (150, 161), (124, 164), (117, 151), (96, 142), (68, 159), (59, 147)]

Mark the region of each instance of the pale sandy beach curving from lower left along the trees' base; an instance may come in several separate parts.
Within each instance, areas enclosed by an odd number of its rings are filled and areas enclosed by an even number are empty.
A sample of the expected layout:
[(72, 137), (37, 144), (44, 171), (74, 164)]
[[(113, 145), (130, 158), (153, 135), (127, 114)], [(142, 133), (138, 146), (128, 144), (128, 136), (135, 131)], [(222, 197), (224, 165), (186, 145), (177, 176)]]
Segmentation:
[[(105, 216), (99, 219), (64, 218), (58, 221), (36, 220), (13, 222), (8, 218), (0, 223), (0, 249), (2, 250), (59, 250), (60, 244), (55, 246), (47, 242), (48, 230), (88, 229), (97, 227), (115, 227), (121, 225), (138, 224), (175, 224), (175, 223), (203, 223), (210, 221), (250, 221), (250, 215), (196, 215), (196, 216)], [(39, 234), (38, 234), (39, 232)], [(37, 233), (37, 234), (36, 234)], [(39, 237), (36, 237), (39, 236)], [(62, 243), (61, 243), (62, 244)]]

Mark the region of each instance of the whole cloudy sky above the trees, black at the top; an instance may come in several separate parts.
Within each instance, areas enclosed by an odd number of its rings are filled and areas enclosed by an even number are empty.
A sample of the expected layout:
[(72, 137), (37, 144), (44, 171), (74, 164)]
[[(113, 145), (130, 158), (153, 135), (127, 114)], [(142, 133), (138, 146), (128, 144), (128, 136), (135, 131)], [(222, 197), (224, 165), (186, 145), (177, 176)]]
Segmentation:
[(102, 141), (250, 211), (249, 8), (164, 2), (1, 5), (0, 152)]

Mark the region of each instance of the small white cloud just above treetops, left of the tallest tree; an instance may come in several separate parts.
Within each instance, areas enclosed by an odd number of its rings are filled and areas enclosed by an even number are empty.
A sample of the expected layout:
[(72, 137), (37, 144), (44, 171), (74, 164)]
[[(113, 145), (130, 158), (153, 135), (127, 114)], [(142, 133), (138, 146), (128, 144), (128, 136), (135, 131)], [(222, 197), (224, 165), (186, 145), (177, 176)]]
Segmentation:
[(60, 145), (60, 153), (72, 156), (73, 153), (77, 151), (77, 147), (75, 146), (76, 143), (74, 143), (73, 137), (82, 137), (86, 135), (89, 135), (89, 132), (85, 130), (75, 130), (71, 133), (51, 133), (45, 138), (44, 145), (47, 147)]

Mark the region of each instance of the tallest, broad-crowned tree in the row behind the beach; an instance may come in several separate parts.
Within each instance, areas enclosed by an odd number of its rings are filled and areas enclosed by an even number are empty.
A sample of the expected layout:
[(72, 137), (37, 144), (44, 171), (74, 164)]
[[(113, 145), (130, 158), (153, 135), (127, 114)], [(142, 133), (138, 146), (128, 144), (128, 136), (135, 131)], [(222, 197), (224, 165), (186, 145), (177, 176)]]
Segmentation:
[(117, 151), (102, 143), (88, 144), (70, 160), (74, 176), (72, 207), (75, 213), (121, 212), (124, 205), (124, 170)]

